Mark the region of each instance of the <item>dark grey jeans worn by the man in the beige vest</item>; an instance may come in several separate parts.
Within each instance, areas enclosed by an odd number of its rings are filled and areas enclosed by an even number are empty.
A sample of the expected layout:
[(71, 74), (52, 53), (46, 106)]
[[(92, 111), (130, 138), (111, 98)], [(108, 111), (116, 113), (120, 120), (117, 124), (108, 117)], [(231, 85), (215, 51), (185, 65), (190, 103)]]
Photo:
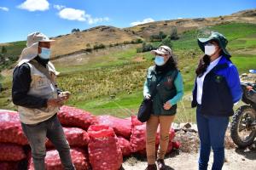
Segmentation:
[(44, 170), (44, 157), (46, 156), (45, 140), (48, 138), (58, 150), (61, 163), (65, 170), (74, 170), (70, 156), (70, 147), (57, 116), (52, 116), (44, 122), (37, 124), (21, 123), (23, 132), (32, 148), (32, 159), (35, 170)]

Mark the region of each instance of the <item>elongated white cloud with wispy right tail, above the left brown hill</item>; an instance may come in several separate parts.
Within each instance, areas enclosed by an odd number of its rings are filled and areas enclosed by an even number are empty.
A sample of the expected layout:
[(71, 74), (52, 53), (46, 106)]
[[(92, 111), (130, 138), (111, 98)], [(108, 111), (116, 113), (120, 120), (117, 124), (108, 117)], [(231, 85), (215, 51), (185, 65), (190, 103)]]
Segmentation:
[(97, 22), (108, 21), (108, 17), (105, 18), (93, 18), (90, 14), (86, 14), (84, 10), (75, 8), (63, 8), (59, 12), (59, 16), (65, 20), (79, 20), (86, 21), (88, 24), (96, 24)]

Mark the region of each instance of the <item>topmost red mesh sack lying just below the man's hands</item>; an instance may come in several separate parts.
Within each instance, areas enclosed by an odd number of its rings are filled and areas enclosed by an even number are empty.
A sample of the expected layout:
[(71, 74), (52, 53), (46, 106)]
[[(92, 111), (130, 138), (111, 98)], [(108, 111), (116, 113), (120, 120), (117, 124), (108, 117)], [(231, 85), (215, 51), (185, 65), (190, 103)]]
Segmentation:
[(61, 107), (58, 118), (62, 125), (80, 127), (84, 130), (87, 130), (92, 123), (96, 122), (96, 116), (91, 115), (90, 112), (67, 105)]

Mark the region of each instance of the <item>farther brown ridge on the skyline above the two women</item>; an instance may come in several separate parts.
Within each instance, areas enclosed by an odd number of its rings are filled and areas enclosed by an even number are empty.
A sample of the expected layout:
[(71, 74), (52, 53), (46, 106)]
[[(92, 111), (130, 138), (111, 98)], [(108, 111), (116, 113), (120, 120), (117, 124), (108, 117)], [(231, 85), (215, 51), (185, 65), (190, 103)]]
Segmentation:
[(240, 11), (235, 14), (218, 16), (212, 18), (195, 18), (195, 19), (179, 19), (179, 20), (162, 20), (150, 22), (147, 24), (132, 26), (125, 28), (125, 31), (131, 31), (135, 35), (149, 38), (150, 35), (158, 34), (160, 31), (170, 33), (173, 26), (177, 27), (177, 32), (189, 31), (191, 29), (201, 28), (205, 26), (216, 26), (227, 24), (229, 22), (251, 23), (256, 24), (256, 9)]

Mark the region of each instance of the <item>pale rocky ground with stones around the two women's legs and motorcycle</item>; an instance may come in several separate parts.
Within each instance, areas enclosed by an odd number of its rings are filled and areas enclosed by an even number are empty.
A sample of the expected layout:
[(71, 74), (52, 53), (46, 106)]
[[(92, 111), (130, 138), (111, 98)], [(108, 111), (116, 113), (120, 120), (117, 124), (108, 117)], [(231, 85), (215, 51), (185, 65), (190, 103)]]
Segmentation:
[[(177, 133), (175, 139), (180, 141), (180, 150), (174, 150), (166, 156), (166, 170), (196, 170), (198, 169), (199, 139), (195, 125), (172, 125)], [(191, 126), (186, 128), (184, 126)], [(230, 129), (227, 130), (225, 138), (225, 162), (223, 170), (254, 170), (256, 169), (256, 141), (247, 149), (238, 149), (230, 139)], [(143, 170), (147, 167), (146, 156), (130, 156), (125, 158), (123, 167), (125, 170)], [(212, 167), (212, 153), (209, 168)]]

